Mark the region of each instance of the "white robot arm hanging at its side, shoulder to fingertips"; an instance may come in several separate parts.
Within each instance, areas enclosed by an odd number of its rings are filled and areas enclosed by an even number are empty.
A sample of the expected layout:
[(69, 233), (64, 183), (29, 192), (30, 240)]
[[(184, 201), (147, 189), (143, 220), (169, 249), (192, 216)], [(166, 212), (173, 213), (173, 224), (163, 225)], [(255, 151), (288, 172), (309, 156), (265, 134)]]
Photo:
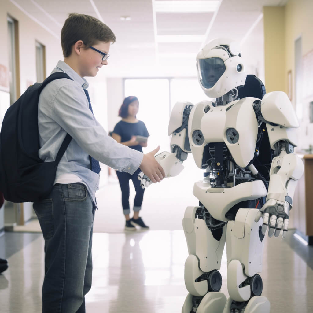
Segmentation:
[(275, 237), (278, 237), (283, 228), (282, 237), (285, 238), (295, 187), (304, 170), (303, 162), (294, 153), (295, 128), (299, 124), (290, 100), (280, 91), (263, 97), (261, 113), (266, 120), (269, 142), (276, 157), (272, 160), (270, 168), (266, 202), (257, 213), (255, 221), (258, 222), (263, 216), (262, 233), (265, 234), (269, 226), (269, 237), (272, 237), (274, 232)]

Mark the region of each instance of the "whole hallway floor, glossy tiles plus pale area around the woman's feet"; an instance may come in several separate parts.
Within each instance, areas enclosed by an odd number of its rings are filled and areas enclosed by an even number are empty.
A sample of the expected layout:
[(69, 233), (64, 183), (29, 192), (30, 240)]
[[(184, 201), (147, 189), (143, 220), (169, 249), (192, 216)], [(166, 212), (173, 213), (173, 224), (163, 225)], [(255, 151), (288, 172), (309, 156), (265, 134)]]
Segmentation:
[[(187, 296), (184, 263), (188, 256), (182, 217), (187, 206), (198, 204), (191, 192), (198, 179), (196, 170), (186, 168), (179, 177), (146, 190), (141, 216), (150, 226), (148, 231), (124, 231), (117, 183), (98, 192), (87, 313), (181, 312)], [(302, 244), (291, 230), (285, 240), (265, 238), (262, 295), (269, 299), (271, 313), (312, 313), (313, 247)], [(6, 232), (0, 236), (0, 258), (9, 263), (0, 274), (0, 312), (41, 312), (42, 234)], [(221, 291), (228, 296), (226, 251), (220, 272)]]

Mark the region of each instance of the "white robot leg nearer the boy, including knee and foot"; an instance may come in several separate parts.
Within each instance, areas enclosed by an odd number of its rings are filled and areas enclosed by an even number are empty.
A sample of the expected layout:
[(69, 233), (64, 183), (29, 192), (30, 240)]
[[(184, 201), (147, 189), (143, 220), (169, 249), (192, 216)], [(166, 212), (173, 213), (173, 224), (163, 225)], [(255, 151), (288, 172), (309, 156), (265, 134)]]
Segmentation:
[[(218, 292), (222, 286), (221, 266), (226, 241), (226, 226), (215, 239), (205, 220), (196, 218), (201, 207), (187, 207), (183, 228), (189, 256), (185, 262), (185, 285), (189, 294), (182, 313), (222, 313), (226, 296)], [(217, 237), (217, 236), (215, 236)]]

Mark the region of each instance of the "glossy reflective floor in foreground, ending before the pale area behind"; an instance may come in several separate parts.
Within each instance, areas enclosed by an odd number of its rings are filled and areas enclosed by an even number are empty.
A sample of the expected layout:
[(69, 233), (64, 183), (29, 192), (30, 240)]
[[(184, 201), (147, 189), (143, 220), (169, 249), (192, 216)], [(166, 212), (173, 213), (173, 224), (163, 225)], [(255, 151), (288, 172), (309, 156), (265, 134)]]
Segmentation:
[[(289, 233), (286, 240), (266, 240), (263, 295), (271, 312), (313, 312), (313, 248)], [(41, 312), (44, 241), (40, 233), (5, 233), (0, 251), (9, 268), (0, 275), (0, 312)], [(2, 256), (3, 257), (3, 256)], [(86, 297), (88, 313), (181, 312), (187, 295), (182, 230), (94, 233), (93, 285)], [(227, 294), (226, 255), (221, 264)]]

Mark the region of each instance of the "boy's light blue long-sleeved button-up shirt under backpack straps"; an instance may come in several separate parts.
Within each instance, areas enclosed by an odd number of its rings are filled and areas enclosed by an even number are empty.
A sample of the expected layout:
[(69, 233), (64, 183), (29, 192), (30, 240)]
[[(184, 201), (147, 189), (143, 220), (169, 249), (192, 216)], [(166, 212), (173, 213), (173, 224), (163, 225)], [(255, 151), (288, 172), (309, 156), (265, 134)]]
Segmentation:
[(84, 92), (88, 82), (84, 78), (63, 61), (58, 62), (54, 72), (65, 72), (73, 80), (54, 80), (39, 96), (39, 157), (44, 162), (54, 161), (69, 133), (73, 139), (58, 165), (56, 180), (67, 173), (78, 176), (95, 202), (100, 177), (91, 171), (89, 155), (118, 171), (133, 174), (143, 154), (108, 136), (89, 109)]

